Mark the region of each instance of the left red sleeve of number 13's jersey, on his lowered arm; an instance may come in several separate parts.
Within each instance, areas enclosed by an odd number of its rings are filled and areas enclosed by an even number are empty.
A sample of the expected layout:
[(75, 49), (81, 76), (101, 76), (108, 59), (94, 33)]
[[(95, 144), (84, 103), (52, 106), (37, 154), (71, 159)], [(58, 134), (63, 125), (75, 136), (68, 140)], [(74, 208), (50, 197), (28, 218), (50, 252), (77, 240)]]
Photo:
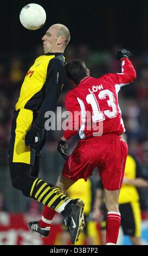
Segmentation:
[(69, 139), (78, 133), (81, 125), (81, 108), (74, 90), (66, 95), (65, 107), (68, 111), (68, 122), (63, 136)]

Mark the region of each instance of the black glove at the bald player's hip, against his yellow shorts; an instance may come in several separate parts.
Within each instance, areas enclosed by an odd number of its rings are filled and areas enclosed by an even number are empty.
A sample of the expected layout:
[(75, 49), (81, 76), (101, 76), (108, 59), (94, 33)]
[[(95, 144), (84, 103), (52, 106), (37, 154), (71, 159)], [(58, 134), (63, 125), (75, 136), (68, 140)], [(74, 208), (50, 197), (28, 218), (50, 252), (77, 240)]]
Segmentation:
[(30, 130), (25, 135), (25, 146), (35, 145), (39, 142), (39, 138), (39, 131), (34, 126), (31, 126)]

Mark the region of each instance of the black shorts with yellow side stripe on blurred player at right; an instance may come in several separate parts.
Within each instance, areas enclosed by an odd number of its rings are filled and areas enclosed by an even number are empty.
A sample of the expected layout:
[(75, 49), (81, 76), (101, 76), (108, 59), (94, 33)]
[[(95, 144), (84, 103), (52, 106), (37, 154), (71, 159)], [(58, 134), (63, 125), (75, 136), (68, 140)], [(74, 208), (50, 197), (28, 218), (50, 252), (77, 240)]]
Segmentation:
[[(120, 204), (119, 211), (124, 235), (139, 237), (141, 235), (141, 210), (139, 202)], [(106, 215), (100, 223), (101, 229), (105, 228), (105, 219)]]

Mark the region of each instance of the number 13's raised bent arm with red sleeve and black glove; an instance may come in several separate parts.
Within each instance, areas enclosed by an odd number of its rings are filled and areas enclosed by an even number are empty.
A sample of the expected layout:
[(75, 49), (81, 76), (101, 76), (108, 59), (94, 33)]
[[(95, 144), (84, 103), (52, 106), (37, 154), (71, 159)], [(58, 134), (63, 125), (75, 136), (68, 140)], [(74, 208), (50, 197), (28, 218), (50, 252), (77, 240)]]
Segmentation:
[(121, 62), (121, 73), (108, 74), (112, 82), (119, 87), (125, 86), (133, 82), (136, 78), (136, 70), (134, 69), (131, 61), (128, 59), (132, 54), (130, 51), (123, 49), (117, 52), (117, 59)]

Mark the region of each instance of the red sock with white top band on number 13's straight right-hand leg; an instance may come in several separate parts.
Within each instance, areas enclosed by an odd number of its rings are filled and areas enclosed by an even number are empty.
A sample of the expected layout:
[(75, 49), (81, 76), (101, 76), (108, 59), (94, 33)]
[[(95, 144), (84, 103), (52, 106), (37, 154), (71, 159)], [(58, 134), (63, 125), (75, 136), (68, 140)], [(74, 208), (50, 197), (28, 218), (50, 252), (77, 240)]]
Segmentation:
[(120, 212), (108, 211), (106, 217), (106, 244), (117, 243), (121, 223)]

